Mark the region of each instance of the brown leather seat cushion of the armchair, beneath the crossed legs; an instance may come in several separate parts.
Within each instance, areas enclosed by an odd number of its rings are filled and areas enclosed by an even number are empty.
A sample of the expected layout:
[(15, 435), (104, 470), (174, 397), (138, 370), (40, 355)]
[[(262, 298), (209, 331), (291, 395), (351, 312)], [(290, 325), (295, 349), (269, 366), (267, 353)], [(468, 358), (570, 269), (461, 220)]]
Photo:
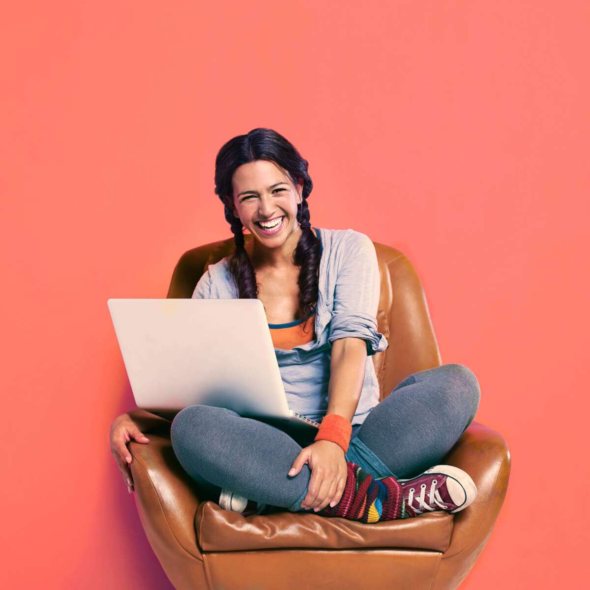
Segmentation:
[(454, 523), (452, 514), (439, 511), (376, 523), (285, 511), (242, 516), (204, 501), (195, 515), (197, 542), (204, 551), (404, 547), (444, 552)]

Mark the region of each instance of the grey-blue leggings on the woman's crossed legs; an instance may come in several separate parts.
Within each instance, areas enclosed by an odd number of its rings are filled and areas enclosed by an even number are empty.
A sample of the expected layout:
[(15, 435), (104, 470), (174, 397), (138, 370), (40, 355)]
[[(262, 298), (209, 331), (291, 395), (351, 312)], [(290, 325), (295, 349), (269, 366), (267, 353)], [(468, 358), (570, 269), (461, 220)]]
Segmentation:
[[(373, 477), (415, 477), (440, 463), (471, 424), (480, 401), (476, 376), (448, 363), (412, 373), (352, 429), (347, 461)], [(182, 409), (172, 421), (172, 448), (210, 499), (222, 488), (251, 500), (303, 510), (312, 470), (287, 475), (303, 447), (278, 428), (209, 405)]]

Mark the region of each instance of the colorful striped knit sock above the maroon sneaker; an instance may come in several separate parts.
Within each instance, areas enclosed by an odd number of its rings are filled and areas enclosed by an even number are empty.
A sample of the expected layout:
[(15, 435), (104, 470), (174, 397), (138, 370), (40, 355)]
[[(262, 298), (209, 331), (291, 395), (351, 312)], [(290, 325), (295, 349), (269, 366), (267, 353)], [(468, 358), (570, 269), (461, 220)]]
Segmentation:
[(404, 490), (395, 476), (375, 478), (352, 461), (346, 461), (346, 467), (348, 476), (340, 501), (335, 506), (328, 504), (316, 514), (366, 523), (416, 516), (406, 506)]

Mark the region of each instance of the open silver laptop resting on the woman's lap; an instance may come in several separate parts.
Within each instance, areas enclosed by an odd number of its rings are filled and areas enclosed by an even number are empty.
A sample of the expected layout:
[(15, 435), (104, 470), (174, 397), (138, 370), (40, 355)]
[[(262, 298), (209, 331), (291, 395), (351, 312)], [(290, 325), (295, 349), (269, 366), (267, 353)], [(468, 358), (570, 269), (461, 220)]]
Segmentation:
[(289, 408), (260, 299), (109, 299), (137, 407), (232, 409), (294, 436), (320, 423)]

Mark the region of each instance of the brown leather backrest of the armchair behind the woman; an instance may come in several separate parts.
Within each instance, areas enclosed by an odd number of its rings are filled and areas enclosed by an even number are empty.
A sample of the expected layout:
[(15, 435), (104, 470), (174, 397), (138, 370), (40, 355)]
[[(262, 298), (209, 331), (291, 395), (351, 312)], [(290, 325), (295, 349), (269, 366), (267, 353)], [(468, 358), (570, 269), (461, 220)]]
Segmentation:
[[(246, 244), (252, 239), (251, 234), (244, 234)], [(424, 290), (414, 267), (399, 250), (373, 244), (381, 275), (377, 325), (389, 343), (386, 350), (373, 357), (381, 390), (379, 401), (382, 401), (411, 373), (441, 365), (441, 356)], [(166, 297), (191, 297), (209, 264), (218, 262), (234, 249), (234, 238), (228, 238), (186, 251), (174, 268)]]

